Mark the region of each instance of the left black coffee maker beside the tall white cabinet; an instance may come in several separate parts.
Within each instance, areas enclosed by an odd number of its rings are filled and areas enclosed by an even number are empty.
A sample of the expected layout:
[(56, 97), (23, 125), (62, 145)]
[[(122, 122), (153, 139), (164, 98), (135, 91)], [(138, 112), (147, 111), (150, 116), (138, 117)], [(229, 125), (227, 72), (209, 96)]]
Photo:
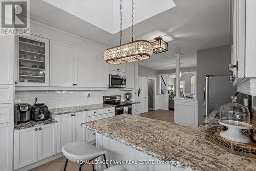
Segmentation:
[(31, 105), (29, 103), (16, 103), (14, 105), (14, 122), (30, 121)]

